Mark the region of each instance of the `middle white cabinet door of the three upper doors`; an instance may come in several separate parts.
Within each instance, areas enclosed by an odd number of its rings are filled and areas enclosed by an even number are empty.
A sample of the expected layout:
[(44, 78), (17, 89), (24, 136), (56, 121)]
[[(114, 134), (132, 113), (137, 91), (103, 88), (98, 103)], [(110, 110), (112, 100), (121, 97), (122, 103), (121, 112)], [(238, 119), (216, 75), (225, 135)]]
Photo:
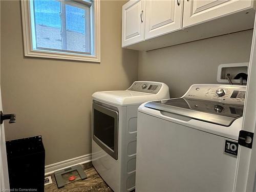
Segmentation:
[(146, 1), (145, 39), (182, 28), (182, 0)]

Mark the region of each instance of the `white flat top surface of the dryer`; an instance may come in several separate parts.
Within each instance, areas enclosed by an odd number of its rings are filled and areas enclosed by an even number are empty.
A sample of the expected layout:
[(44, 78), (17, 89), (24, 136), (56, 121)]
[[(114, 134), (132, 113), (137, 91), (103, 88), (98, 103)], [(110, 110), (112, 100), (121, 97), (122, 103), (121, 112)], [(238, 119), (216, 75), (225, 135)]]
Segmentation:
[(94, 99), (110, 102), (117, 105), (139, 104), (150, 100), (158, 100), (156, 94), (142, 93), (136, 91), (101, 91), (92, 95)]

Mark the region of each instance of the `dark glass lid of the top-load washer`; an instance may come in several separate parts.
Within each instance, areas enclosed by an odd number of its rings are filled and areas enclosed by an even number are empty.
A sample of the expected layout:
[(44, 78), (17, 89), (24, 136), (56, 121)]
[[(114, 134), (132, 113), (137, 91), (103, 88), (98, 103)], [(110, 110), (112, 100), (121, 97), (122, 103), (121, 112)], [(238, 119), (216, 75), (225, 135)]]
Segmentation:
[(190, 98), (153, 101), (146, 103), (145, 106), (223, 126), (230, 126), (234, 120), (242, 117), (244, 108), (242, 104), (227, 104)]

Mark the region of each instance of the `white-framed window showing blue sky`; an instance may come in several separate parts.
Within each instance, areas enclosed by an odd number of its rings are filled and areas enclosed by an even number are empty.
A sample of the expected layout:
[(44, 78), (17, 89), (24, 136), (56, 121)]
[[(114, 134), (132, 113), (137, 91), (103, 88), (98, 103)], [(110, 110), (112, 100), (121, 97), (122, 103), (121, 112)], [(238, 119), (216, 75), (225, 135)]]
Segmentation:
[(100, 62), (99, 1), (22, 1), (25, 56)]

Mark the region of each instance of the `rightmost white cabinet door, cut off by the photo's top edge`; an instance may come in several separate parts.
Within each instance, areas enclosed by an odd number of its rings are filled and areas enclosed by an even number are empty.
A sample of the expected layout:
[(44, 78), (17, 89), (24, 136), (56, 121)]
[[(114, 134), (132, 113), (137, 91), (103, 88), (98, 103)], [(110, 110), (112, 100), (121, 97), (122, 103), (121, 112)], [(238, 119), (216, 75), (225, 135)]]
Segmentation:
[(184, 0), (183, 28), (252, 8), (251, 0)]

